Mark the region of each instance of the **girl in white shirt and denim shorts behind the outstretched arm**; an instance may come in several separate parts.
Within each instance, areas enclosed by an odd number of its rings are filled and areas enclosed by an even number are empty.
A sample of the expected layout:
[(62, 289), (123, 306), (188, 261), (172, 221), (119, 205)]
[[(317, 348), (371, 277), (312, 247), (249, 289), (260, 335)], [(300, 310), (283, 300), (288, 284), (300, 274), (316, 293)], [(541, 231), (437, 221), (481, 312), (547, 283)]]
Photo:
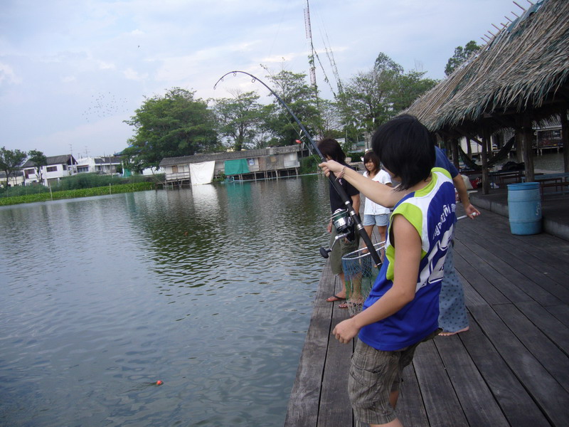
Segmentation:
[[(373, 150), (368, 150), (368, 152), (363, 155), (363, 165), (366, 167), (366, 172), (363, 172), (363, 176), (371, 178), (373, 181), (381, 182), (381, 184), (391, 186), (391, 177), (387, 172), (381, 169), (379, 158)], [(377, 226), (380, 236), (379, 241), (385, 241), (389, 215), (389, 208), (376, 204), (370, 199), (366, 199), (366, 206), (363, 209), (363, 228), (366, 229), (370, 238), (373, 233), (373, 226)]]

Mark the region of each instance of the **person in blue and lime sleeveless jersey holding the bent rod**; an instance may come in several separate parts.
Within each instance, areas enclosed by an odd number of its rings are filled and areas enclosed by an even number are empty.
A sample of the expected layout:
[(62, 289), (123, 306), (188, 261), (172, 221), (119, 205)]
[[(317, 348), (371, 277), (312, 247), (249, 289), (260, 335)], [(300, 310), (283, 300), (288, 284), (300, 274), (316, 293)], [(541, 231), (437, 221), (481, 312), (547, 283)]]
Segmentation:
[[(385, 243), (385, 260), (363, 310), (334, 328), (340, 342), (358, 335), (349, 376), (354, 414), (371, 426), (402, 426), (395, 404), (403, 368), (420, 342), (438, 333), (439, 292), (456, 208), (454, 186), (435, 168), (435, 144), (413, 116), (381, 125), (372, 139), (395, 184), (393, 191), (336, 162), (321, 164), (369, 199), (395, 209)], [(403, 197), (402, 197), (403, 195)]]

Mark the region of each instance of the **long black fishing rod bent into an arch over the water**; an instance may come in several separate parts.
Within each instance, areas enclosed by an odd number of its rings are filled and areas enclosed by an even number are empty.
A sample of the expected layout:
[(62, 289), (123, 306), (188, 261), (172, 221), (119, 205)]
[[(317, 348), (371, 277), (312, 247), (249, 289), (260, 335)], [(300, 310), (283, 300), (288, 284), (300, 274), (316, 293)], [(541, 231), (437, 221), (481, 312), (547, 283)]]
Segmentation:
[[(265, 88), (267, 88), (267, 90), (269, 90), (270, 93), (272, 93), (272, 95), (274, 95), (277, 98), (277, 100), (280, 102), (280, 104), (283, 107), (285, 107), (285, 110), (287, 110), (289, 115), (291, 115), (292, 118), (294, 119), (294, 121), (297, 122), (297, 125), (299, 125), (301, 132), (304, 132), (304, 135), (306, 135), (310, 144), (314, 148), (314, 152), (316, 152), (318, 154), (318, 156), (320, 157), (321, 162), (326, 162), (326, 158), (324, 158), (324, 156), (320, 152), (318, 145), (316, 144), (316, 142), (314, 142), (314, 139), (312, 139), (312, 137), (310, 137), (310, 135), (307, 132), (304, 125), (302, 125), (300, 120), (298, 120), (298, 117), (294, 114), (294, 112), (292, 112), (292, 110), (287, 105), (287, 103), (285, 101), (283, 101), (282, 98), (279, 95), (277, 95), (277, 93), (275, 93), (274, 90), (272, 90), (269, 86), (267, 86), (265, 84), (265, 82), (263, 82), (259, 78), (255, 77), (255, 75), (247, 73), (246, 71), (238, 71), (238, 70), (230, 71), (229, 73), (225, 73), (224, 75), (222, 75), (219, 78), (219, 80), (216, 82), (216, 84), (213, 85), (213, 89), (214, 90), (216, 89), (218, 83), (223, 81), (223, 78), (225, 78), (225, 76), (230, 75), (230, 74), (233, 74), (234, 76), (236, 76), (236, 75), (238, 75), (238, 73), (248, 75), (250, 78), (252, 78), (252, 83), (255, 83), (255, 82), (261, 83), (263, 86), (265, 86)], [(346, 206), (346, 210), (348, 211), (349, 216), (351, 217), (353, 223), (355, 224), (355, 226), (358, 230), (358, 233), (360, 235), (360, 238), (363, 240), (363, 243), (366, 243), (368, 251), (371, 254), (371, 258), (373, 258), (373, 263), (375, 263), (376, 265), (380, 265), (381, 264), (381, 258), (379, 257), (379, 255), (376, 251), (376, 248), (373, 246), (373, 243), (371, 242), (371, 238), (368, 236), (368, 233), (366, 232), (365, 228), (363, 228), (363, 225), (362, 225), (361, 220), (358, 216), (358, 213), (353, 210), (353, 206), (351, 205), (350, 197), (348, 196), (348, 194), (346, 194), (346, 191), (344, 191), (344, 188), (342, 188), (342, 186), (340, 185), (340, 183), (336, 179), (336, 176), (334, 175), (333, 172), (330, 172), (328, 179), (330, 180), (330, 183), (332, 184), (332, 186), (334, 187), (336, 192), (339, 194), (342, 201), (344, 201), (344, 205)], [(324, 249), (324, 248), (322, 248), (322, 249)], [(320, 251), (321, 255), (323, 255), (324, 258), (327, 258), (328, 254), (326, 253), (326, 255), (324, 255), (322, 249)], [(324, 252), (327, 252), (327, 251), (324, 251)]]

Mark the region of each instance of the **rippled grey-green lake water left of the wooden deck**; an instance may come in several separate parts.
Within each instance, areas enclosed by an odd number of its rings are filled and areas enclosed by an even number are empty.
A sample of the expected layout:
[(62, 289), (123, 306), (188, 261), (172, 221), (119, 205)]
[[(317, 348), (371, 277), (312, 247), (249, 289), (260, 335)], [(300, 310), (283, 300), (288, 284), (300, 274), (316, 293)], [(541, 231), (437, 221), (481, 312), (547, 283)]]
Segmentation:
[(319, 176), (0, 208), (0, 425), (282, 426), (328, 216)]

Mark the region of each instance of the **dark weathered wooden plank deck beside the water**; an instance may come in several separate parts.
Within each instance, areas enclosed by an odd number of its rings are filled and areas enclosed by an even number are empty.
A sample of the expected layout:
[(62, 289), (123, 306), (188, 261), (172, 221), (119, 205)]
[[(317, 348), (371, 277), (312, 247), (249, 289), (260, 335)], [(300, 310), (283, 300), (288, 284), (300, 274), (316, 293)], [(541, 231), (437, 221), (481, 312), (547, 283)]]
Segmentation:
[[(514, 236), (482, 210), (459, 221), (454, 265), (470, 330), (421, 344), (405, 369), (405, 426), (569, 426), (569, 241)], [(348, 316), (324, 267), (285, 426), (353, 426), (346, 383), (353, 344), (331, 330)]]

